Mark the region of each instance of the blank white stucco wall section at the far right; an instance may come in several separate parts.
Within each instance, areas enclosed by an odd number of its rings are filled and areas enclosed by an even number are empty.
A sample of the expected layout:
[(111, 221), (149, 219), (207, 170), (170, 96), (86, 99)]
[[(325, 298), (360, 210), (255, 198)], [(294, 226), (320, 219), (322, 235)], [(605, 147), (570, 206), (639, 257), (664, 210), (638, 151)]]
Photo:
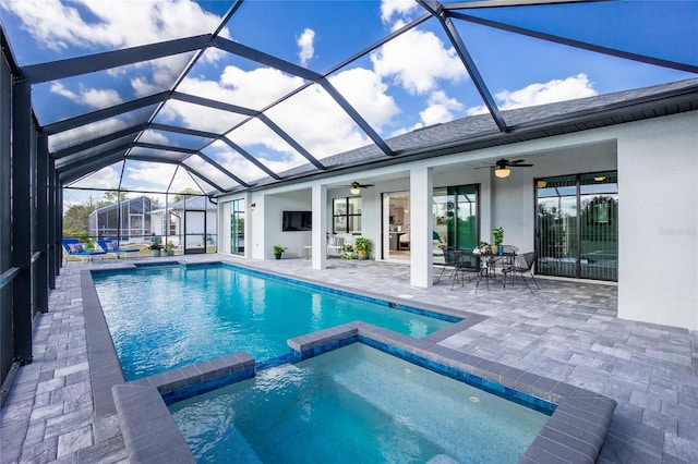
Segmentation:
[(698, 329), (698, 112), (618, 137), (618, 316)]

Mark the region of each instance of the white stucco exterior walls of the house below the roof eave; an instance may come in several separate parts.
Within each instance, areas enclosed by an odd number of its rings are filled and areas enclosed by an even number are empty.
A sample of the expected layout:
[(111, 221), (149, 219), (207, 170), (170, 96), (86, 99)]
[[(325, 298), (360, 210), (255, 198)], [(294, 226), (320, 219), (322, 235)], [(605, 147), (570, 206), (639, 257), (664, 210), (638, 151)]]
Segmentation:
[[(372, 240), (373, 255), (380, 258), (382, 193), (423, 190), (410, 186), (424, 182), (424, 169), (434, 187), (480, 186), (481, 240), (491, 242), (492, 229), (502, 227), (505, 243), (532, 251), (535, 179), (617, 170), (618, 317), (698, 330), (697, 127), (698, 111), (694, 111), (253, 192), (250, 202), (257, 208), (263, 205), (263, 213), (252, 213), (252, 257), (272, 258), (276, 243), (289, 247), (289, 257), (302, 256), (311, 233), (281, 233), (281, 211), (311, 209), (311, 186), (328, 185), (325, 230), (332, 231), (332, 199), (349, 196), (349, 191), (330, 185), (361, 180), (375, 185), (361, 194), (362, 234)], [(534, 166), (514, 168), (507, 179), (473, 169), (498, 158), (526, 159)], [(424, 205), (411, 207), (419, 208)], [(417, 221), (431, 220), (430, 213), (414, 215), (412, 227), (423, 229)], [(422, 251), (426, 253), (431, 247)], [(429, 286), (429, 257), (411, 260), (412, 284)]]

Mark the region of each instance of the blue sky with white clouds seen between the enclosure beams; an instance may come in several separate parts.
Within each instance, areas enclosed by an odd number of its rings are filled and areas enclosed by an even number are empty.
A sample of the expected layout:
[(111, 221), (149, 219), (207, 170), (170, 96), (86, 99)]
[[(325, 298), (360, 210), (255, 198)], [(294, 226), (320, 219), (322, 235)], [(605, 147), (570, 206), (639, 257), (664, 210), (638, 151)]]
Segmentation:
[[(227, 1), (191, 0), (0, 0), (3, 27), (20, 65), (212, 33), (228, 11)], [(619, 1), (489, 9), (464, 13), (631, 52), (698, 65), (698, 2)], [(441, 24), (420, 26), (339, 66), (349, 58), (424, 14), (411, 0), (245, 1), (221, 36), (318, 73), (336, 69), (329, 82), (383, 138), (486, 111)], [(585, 50), (454, 21), (502, 110), (606, 94), (695, 77), (695, 74), (640, 64)], [(123, 69), (36, 85), (35, 110), (49, 124), (122, 101), (169, 89), (193, 53)], [(178, 88), (181, 91), (261, 110), (303, 85), (298, 76), (208, 49)], [(372, 143), (317, 85), (311, 85), (266, 115), (317, 159)], [(53, 136), (51, 148), (73, 144), (143, 114), (124, 114), (70, 134)], [(243, 118), (168, 101), (156, 122), (225, 132)], [(258, 121), (228, 138), (281, 172), (305, 159)], [(205, 139), (148, 131), (142, 141), (200, 148)], [(203, 149), (245, 181), (264, 173), (216, 142)], [(197, 157), (188, 164), (209, 169)], [(94, 174), (81, 185), (141, 190), (183, 188), (172, 183), (171, 166), (145, 168), (127, 162)], [(236, 183), (212, 171), (225, 187)], [(146, 175), (147, 174), (147, 175)], [(215, 179), (214, 179), (215, 178)], [(206, 187), (205, 187), (206, 188)]]

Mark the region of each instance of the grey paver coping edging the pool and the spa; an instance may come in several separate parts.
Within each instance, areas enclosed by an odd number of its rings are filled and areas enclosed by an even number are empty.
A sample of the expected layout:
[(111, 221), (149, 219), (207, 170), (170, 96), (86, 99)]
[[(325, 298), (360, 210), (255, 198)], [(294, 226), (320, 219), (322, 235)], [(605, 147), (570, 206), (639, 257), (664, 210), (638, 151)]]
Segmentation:
[[(208, 264), (218, 262), (221, 261)], [(185, 266), (182, 262), (173, 265)], [(110, 270), (129, 268), (137, 268), (137, 266), (125, 265)], [(254, 269), (252, 270), (254, 271)], [(291, 277), (288, 279), (329, 288), (318, 282)], [(177, 392), (188, 389), (188, 394), (192, 391), (207, 391), (217, 386), (252, 377), (254, 376), (254, 358), (246, 353), (236, 353), (125, 382), (99, 305), (91, 270), (81, 272), (81, 288), (96, 415), (98, 417), (111, 414), (119, 415), (124, 444), (132, 463), (195, 462), (174, 419), (169, 414), (165, 398), (174, 399)], [(347, 291), (349, 292), (348, 289)], [(349, 293), (357, 294), (358, 292), (351, 291)], [(376, 295), (376, 297), (386, 301), (384, 295)], [(418, 306), (409, 301), (404, 301), (404, 303), (407, 306)], [(419, 306), (425, 305), (420, 304)], [(437, 306), (433, 307), (437, 308)], [(360, 338), (364, 338), (554, 403), (557, 405), (555, 412), (519, 462), (594, 463), (603, 444), (616, 402), (607, 396), (568, 383), (437, 344), (438, 341), (449, 337), (452, 332), (465, 330), (467, 327), (486, 319), (483, 316), (479, 317), (480, 319), (473, 318), (473, 320), (466, 318), (461, 322), (453, 323), (449, 328), (422, 339), (413, 339), (366, 322), (353, 321), (290, 339), (288, 344), (301, 359), (329, 351), (342, 343), (361, 341)], [(459, 327), (455, 328), (454, 326)]]

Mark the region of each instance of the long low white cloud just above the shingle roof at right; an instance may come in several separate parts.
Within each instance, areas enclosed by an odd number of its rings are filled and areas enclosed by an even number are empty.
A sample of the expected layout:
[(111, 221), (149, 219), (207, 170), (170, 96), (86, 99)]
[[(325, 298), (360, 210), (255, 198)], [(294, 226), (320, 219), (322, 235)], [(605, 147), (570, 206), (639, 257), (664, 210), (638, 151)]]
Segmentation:
[[(598, 95), (593, 84), (586, 74), (577, 74), (565, 80), (553, 80), (546, 83), (529, 84), (518, 90), (502, 90), (495, 94), (501, 110), (534, 107), (556, 101), (574, 100)], [(486, 107), (469, 108), (468, 115), (486, 113)]]

